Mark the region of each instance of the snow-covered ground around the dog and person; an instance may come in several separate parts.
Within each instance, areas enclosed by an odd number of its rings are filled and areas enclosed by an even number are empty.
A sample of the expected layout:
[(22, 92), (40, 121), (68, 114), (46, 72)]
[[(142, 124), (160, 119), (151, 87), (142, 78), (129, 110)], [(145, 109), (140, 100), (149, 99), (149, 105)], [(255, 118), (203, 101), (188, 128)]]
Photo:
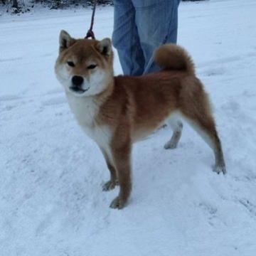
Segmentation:
[[(0, 16), (1, 256), (256, 255), (256, 1), (181, 3), (178, 43), (213, 106), (228, 175), (188, 126), (134, 146), (129, 206), (108, 208), (107, 167), (70, 113), (53, 65), (58, 33), (84, 36), (90, 10)], [(111, 36), (112, 7), (96, 13)], [(121, 73), (118, 58), (115, 71)]]

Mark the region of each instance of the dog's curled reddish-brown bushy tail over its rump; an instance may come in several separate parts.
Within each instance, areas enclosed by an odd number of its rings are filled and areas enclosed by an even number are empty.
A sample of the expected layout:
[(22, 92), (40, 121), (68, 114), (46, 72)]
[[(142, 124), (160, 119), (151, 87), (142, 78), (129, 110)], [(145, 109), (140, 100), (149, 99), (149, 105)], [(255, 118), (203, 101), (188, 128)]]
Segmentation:
[(174, 43), (159, 46), (154, 53), (154, 61), (167, 70), (180, 70), (194, 74), (194, 65), (185, 49)]

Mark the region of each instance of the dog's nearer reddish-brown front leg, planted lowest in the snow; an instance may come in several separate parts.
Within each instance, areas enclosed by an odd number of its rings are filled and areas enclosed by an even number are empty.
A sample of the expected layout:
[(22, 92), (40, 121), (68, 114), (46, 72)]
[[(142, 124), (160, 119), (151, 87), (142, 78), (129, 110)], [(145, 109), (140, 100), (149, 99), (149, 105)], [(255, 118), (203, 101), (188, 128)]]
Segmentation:
[(110, 204), (110, 208), (122, 209), (127, 203), (132, 188), (131, 143), (126, 142), (122, 146), (114, 146), (112, 148), (112, 159), (117, 170), (120, 190), (119, 195)]

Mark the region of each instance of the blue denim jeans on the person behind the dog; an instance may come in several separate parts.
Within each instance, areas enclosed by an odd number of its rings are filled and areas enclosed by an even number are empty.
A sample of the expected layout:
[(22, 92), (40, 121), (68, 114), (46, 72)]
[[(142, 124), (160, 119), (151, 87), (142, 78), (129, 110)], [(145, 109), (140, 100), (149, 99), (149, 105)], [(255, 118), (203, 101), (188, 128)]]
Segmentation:
[(180, 0), (114, 0), (112, 43), (124, 75), (159, 70), (154, 50), (163, 43), (176, 43)]

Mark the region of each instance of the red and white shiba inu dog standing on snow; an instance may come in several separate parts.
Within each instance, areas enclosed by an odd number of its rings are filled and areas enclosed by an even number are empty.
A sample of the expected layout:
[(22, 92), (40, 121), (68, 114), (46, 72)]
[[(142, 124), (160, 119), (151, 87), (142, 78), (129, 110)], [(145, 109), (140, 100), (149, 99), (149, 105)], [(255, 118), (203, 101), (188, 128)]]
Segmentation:
[(110, 181), (103, 191), (119, 184), (111, 208), (123, 208), (131, 192), (132, 143), (164, 123), (173, 130), (166, 149), (176, 148), (184, 119), (213, 149), (213, 171), (226, 172), (208, 95), (191, 58), (183, 48), (166, 44), (156, 50), (154, 60), (163, 67), (161, 71), (114, 77), (110, 39), (74, 39), (60, 32), (55, 73), (78, 123), (105, 157)]

